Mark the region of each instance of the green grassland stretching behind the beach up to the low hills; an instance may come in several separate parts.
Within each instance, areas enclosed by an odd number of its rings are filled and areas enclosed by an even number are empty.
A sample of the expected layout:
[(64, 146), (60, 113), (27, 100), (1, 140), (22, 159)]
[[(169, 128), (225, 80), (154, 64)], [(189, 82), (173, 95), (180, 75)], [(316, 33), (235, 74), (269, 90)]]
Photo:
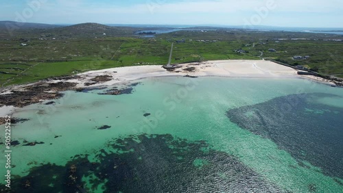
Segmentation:
[[(343, 77), (343, 42), (334, 41), (343, 37), (338, 35), (217, 29), (176, 31), (142, 38), (134, 35), (134, 29), (121, 29), (117, 33), (100, 26), (103, 31), (95, 33), (94, 27), (99, 26), (21, 31), (15, 36), (1, 37), (0, 85), (28, 83), (85, 70), (166, 64), (171, 42), (175, 42), (174, 64), (263, 57)], [(106, 36), (103, 32), (107, 32)], [(246, 53), (237, 53), (236, 49)], [(294, 60), (294, 55), (309, 55), (309, 58)]]

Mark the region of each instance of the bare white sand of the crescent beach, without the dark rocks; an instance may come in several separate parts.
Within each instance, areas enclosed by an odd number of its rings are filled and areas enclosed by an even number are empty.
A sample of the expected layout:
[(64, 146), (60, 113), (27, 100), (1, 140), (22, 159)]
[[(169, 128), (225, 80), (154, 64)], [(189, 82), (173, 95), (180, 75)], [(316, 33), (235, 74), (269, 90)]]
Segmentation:
[[(168, 72), (162, 66), (128, 66), (121, 68), (108, 68), (104, 70), (88, 71), (81, 73), (80, 79), (67, 80), (68, 82), (78, 83), (76, 87), (84, 88), (84, 83), (91, 82), (91, 79), (100, 75), (109, 75), (112, 78), (110, 81), (93, 84), (95, 86), (111, 86), (115, 83), (123, 83), (136, 79), (147, 77), (163, 77), (163, 76), (217, 76), (217, 77), (244, 77), (244, 78), (309, 78), (314, 81), (322, 81), (330, 83), (327, 80), (320, 79), (314, 76), (297, 75), (297, 70), (282, 66), (274, 62), (266, 60), (216, 60), (201, 63), (181, 64), (182, 68), (177, 68), (174, 72)], [(193, 72), (187, 72), (184, 69), (194, 67)], [(50, 81), (47, 83), (58, 82)], [(0, 94), (8, 94), (12, 90), (21, 90), (23, 86), (15, 86), (3, 90)], [(0, 117), (3, 115), (12, 114), (16, 110), (15, 107), (0, 107)]]

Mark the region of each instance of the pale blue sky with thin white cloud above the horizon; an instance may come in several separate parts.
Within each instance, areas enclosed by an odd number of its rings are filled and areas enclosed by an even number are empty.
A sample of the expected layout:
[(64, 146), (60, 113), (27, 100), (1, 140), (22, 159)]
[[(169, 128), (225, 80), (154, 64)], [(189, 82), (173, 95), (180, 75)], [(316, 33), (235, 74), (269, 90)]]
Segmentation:
[(343, 1), (0, 0), (0, 21), (343, 27)]

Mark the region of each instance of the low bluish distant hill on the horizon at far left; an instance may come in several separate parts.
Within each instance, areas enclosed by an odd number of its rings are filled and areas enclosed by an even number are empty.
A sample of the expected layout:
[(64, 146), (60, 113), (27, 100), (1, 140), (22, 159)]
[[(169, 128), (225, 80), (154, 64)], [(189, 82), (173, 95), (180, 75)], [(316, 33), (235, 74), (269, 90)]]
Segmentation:
[(15, 21), (0, 21), (1, 28), (10, 29), (51, 29), (55, 27), (62, 27), (62, 25), (50, 25), (44, 23), (20, 23)]

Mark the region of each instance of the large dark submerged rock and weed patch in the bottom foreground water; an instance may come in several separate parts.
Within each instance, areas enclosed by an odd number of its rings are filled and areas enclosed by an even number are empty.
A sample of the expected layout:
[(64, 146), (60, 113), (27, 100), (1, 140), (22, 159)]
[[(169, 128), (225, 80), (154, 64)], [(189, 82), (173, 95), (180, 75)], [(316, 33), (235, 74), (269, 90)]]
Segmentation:
[[(36, 166), (11, 188), (23, 193), (95, 192), (99, 185), (102, 192), (283, 192), (237, 157), (204, 141), (143, 134), (113, 140), (107, 148), (111, 151), (99, 149), (91, 155), (97, 162), (75, 155), (65, 166)], [(91, 181), (85, 185), (83, 178)]]

